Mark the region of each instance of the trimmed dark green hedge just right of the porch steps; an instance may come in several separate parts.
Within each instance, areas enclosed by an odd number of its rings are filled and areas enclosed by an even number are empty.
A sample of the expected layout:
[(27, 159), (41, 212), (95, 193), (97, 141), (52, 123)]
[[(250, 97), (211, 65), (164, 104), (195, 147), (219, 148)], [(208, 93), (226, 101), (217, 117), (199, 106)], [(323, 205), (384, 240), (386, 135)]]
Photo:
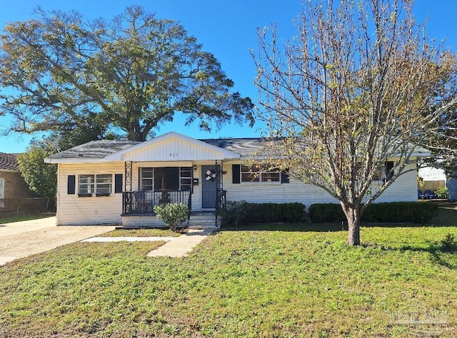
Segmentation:
[(230, 225), (249, 225), (254, 223), (301, 222), (305, 205), (302, 203), (247, 203), (236, 201), (227, 203), (221, 210), (222, 223)]

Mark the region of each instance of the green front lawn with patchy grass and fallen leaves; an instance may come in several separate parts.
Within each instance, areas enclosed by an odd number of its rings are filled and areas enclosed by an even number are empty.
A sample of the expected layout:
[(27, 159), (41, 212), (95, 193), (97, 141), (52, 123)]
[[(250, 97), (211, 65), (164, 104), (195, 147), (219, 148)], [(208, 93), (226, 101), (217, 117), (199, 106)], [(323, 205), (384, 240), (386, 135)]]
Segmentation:
[(180, 259), (66, 245), (0, 267), (0, 336), (456, 337), (457, 227), (440, 222), (363, 227), (361, 247), (341, 225), (227, 229)]

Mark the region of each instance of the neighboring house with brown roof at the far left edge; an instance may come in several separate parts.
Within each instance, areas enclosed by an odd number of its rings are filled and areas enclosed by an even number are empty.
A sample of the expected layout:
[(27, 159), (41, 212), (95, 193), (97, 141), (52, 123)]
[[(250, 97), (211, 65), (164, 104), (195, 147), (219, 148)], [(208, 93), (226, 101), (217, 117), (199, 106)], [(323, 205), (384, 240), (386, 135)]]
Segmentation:
[(5, 200), (31, 197), (29, 185), (19, 171), (16, 154), (0, 153), (0, 212), (8, 209), (10, 203), (5, 203)]

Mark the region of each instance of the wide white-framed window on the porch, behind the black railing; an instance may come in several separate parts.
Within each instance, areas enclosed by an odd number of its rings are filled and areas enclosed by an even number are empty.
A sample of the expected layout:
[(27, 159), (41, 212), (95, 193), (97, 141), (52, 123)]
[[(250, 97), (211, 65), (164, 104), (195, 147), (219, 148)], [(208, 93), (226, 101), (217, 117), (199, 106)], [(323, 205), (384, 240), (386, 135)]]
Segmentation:
[(192, 167), (140, 168), (141, 190), (191, 190)]

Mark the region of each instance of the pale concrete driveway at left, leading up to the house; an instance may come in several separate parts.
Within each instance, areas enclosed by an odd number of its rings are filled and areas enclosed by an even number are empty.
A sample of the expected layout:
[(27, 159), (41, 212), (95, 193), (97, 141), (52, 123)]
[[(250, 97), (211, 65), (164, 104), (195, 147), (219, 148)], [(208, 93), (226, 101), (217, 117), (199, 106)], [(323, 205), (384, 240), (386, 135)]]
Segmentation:
[(56, 226), (56, 217), (0, 224), (0, 265), (114, 230), (114, 226)]

